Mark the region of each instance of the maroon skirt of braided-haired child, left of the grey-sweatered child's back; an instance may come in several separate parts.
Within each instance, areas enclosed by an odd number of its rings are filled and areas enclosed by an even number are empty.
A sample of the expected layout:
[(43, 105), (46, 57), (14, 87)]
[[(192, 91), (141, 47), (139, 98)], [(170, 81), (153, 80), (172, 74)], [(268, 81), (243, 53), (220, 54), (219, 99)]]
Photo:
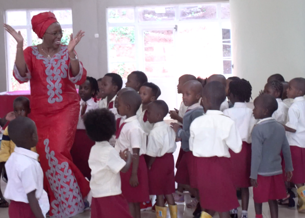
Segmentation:
[(236, 154), (229, 150), (232, 163), (232, 178), (236, 188), (251, 187), (251, 144), (242, 142), (242, 151)]

